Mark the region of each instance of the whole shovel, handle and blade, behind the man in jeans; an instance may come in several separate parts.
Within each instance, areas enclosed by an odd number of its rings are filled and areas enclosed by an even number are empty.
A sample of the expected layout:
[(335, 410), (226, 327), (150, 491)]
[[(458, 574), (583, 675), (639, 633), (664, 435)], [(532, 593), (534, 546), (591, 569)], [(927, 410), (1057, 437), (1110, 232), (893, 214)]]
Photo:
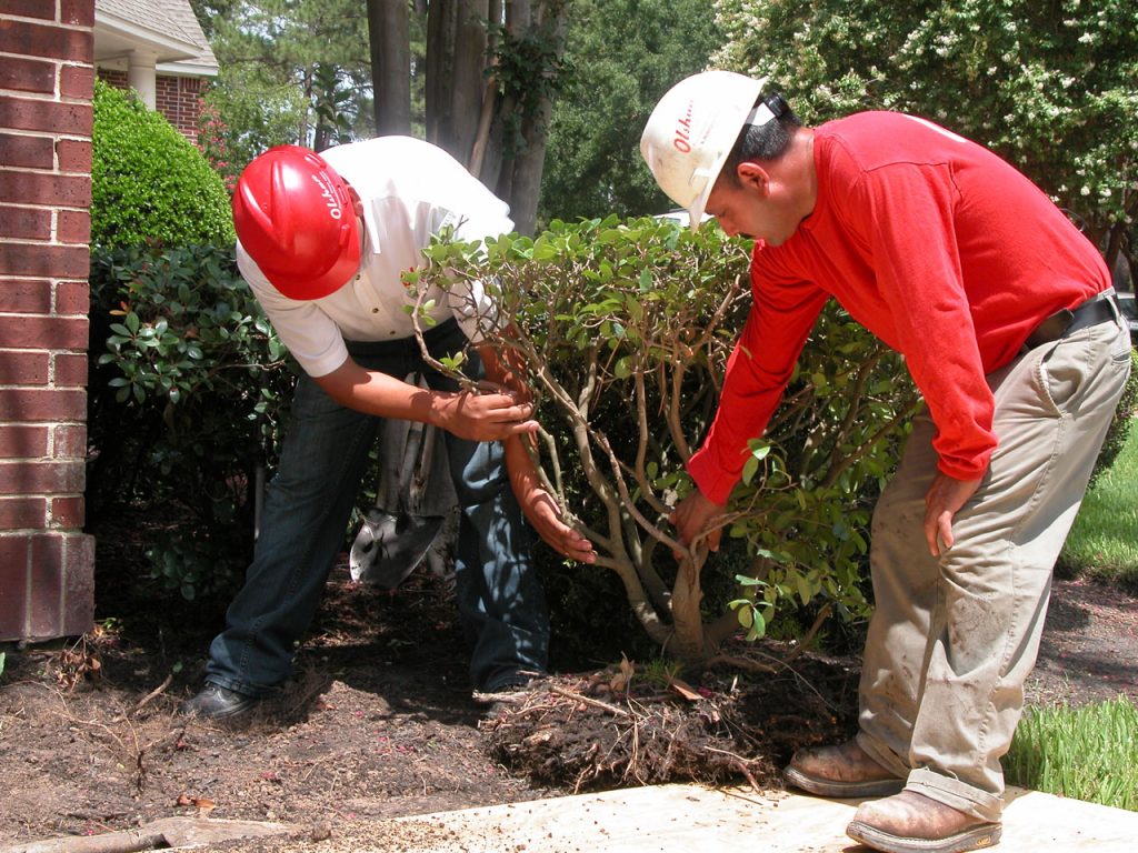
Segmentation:
[[(368, 511), (348, 557), (352, 579), (395, 589), (427, 555), (443, 525), (442, 515), (420, 515), (427, 475), (431, 469), (435, 428), (418, 422), (388, 421), (406, 429), (396, 480), (394, 464), (384, 465), (376, 506)], [(390, 444), (395, 444), (391, 441)], [(420, 498), (420, 499), (417, 499)]]

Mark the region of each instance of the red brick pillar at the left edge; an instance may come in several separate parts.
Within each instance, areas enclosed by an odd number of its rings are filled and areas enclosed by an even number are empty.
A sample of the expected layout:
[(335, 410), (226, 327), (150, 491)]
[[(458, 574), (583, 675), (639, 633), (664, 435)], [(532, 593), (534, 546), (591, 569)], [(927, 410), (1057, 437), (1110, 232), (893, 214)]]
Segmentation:
[(0, 0), (0, 640), (83, 633), (94, 0)]

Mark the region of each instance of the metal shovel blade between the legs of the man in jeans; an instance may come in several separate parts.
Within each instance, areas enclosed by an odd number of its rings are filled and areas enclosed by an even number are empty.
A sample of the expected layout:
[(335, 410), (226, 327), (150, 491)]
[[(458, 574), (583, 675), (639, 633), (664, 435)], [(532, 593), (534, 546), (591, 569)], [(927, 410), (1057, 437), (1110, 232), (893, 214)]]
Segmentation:
[(442, 527), (442, 515), (370, 510), (352, 544), (352, 580), (395, 589), (427, 556)]

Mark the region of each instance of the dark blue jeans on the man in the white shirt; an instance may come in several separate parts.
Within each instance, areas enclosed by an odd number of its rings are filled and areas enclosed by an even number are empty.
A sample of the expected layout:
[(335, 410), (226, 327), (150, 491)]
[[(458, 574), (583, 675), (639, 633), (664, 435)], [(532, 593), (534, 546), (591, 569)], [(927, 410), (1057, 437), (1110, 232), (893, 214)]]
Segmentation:
[[(453, 321), (424, 338), (436, 358), (467, 343)], [(370, 370), (399, 379), (418, 371), (434, 389), (456, 388), (423, 363), (413, 338), (351, 349)], [(477, 355), (471, 359), (468, 371), (480, 374)], [(381, 424), (300, 378), (279, 469), (266, 489), (253, 563), (230, 604), (225, 630), (209, 647), (207, 681), (258, 696), (289, 678), (295, 646), (344, 548), (368, 452)], [(444, 434), (461, 507), (455, 583), (471, 646), (470, 677), (477, 689), (493, 691), (514, 682), (519, 671), (545, 669), (549, 615), (533, 565), (534, 536), (510, 488), (502, 445)]]

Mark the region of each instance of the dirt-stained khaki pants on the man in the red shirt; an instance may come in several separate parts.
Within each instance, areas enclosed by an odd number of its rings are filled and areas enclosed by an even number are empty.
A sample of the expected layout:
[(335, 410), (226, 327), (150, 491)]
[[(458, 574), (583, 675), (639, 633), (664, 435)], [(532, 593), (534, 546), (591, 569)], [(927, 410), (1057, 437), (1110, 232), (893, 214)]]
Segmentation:
[(989, 375), (999, 446), (940, 558), (923, 529), (935, 428), (927, 416), (914, 424), (874, 512), (858, 735), (908, 789), (999, 819), (1000, 757), (1023, 710), (1052, 568), (1129, 372), (1129, 332), (1104, 322)]

